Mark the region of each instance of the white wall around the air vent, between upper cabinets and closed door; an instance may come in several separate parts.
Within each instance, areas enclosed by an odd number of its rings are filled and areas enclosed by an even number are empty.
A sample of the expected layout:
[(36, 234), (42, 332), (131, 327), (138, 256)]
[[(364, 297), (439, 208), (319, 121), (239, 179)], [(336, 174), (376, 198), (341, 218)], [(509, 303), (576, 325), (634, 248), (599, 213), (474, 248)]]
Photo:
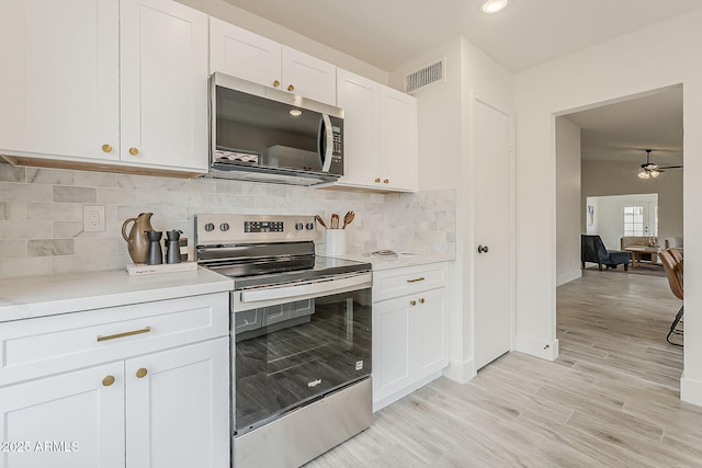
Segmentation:
[[(471, 102), (472, 96), (513, 113), (512, 73), (463, 37), (432, 50), (390, 72), (390, 85), (401, 88), (404, 77), (445, 57), (446, 80), (416, 94), (418, 105), (419, 189), (456, 189), (456, 262), (452, 277), (451, 364), (446, 376), (466, 381), (474, 365), (474, 239)], [(505, 174), (505, 176), (510, 176)]]

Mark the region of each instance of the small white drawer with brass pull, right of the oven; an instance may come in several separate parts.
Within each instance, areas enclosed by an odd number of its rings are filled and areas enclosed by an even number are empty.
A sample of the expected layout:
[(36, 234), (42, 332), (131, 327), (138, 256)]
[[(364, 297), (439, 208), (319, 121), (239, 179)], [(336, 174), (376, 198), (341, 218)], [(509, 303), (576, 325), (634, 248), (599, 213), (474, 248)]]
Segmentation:
[(373, 301), (435, 289), (448, 284), (448, 262), (373, 272)]

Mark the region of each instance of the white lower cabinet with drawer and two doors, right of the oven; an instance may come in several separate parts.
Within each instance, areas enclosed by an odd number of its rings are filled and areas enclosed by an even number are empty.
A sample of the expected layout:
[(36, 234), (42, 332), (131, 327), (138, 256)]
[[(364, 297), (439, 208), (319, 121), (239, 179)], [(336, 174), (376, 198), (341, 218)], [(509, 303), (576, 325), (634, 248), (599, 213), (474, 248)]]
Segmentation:
[(448, 263), (374, 272), (374, 411), (449, 365), (448, 284)]

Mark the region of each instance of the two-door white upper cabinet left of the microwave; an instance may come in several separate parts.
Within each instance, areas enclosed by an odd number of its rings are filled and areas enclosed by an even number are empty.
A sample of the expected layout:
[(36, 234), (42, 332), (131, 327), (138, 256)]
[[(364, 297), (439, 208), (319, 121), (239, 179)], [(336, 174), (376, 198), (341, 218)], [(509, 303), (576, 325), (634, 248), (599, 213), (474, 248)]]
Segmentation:
[(204, 173), (207, 15), (171, 0), (0, 0), (0, 155)]

